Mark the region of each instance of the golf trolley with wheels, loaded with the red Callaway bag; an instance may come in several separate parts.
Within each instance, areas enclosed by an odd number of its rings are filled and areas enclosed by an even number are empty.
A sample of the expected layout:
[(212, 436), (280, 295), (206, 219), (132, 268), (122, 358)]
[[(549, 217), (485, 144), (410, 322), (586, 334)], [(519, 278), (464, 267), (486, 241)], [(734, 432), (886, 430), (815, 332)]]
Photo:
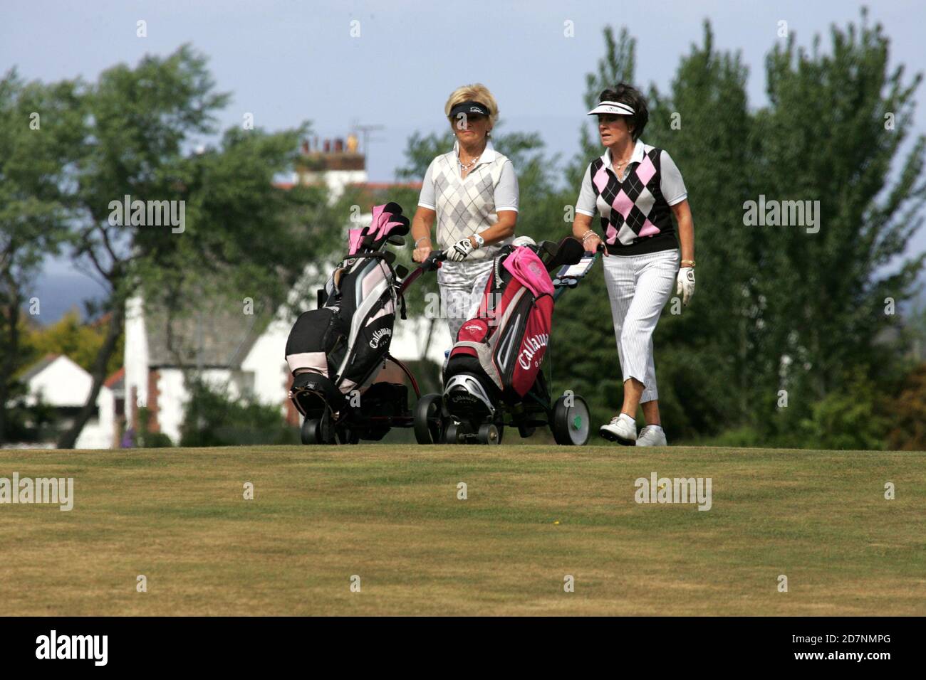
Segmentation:
[[(521, 248), (531, 251), (519, 253), (526, 265), (507, 266), (506, 259)], [(569, 391), (554, 399), (541, 365), (554, 303), (579, 285), (597, 257), (572, 238), (503, 249), (479, 315), (457, 335), (444, 367), (443, 393), (419, 399), (414, 417), (419, 444), (498, 444), (505, 427), (517, 427), (522, 438), (549, 427), (557, 444), (585, 444), (588, 404)], [(551, 280), (549, 272), (557, 269)]]

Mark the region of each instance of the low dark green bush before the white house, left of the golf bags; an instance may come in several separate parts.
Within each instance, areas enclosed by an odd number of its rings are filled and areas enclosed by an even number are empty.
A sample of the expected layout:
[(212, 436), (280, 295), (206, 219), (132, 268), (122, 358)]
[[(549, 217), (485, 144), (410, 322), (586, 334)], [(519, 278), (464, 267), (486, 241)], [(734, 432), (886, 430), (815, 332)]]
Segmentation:
[(231, 399), (227, 388), (210, 387), (195, 377), (188, 384), (181, 446), (298, 443), (298, 430), (283, 424), (279, 406)]

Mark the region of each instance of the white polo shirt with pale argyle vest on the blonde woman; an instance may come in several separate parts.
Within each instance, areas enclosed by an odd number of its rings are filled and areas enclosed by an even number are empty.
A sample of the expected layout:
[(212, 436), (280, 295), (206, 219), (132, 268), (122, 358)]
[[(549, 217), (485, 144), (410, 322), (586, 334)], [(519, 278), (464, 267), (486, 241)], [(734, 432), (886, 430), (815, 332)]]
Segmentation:
[[(476, 166), (464, 179), (457, 162), (458, 147), (455, 142), (453, 151), (434, 158), (421, 183), (418, 204), (437, 213), (440, 249), (488, 229), (498, 221), (499, 210), (518, 210), (518, 177), (511, 161), (487, 141)], [(492, 258), (513, 240), (511, 236), (477, 248), (469, 253), (467, 261)]]

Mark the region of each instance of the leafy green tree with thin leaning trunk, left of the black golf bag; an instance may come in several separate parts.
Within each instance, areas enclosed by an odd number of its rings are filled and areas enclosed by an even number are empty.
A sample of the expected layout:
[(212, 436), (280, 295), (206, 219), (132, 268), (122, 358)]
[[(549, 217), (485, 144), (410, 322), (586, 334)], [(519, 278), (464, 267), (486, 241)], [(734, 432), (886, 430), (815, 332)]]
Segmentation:
[[(91, 370), (93, 389), (60, 448), (73, 446), (93, 413), (133, 294), (144, 291), (146, 300), (180, 314), (195, 307), (206, 278), (219, 278), (242, 298), (253, 291), (256, 302), (282, 302), (313, 245), (331, 233), (323, 209), (311, 222), (305, 215), (326, 203), (324, 192), (272, 185), (292, 167), (307, 126), (227, 130), (219, 145), (193, 151), (215, 131), (215, 115), (229, 99), (215, 92), (206, 59), (188, 45), (164, 58), (145, 56), (136, 68), (110, 68), (81, 90), (74, 254), (105, 282), (109, 323)], [(134, 207), (120, 215), (125, 196), (149, 211), (167, 205), (178, 219), (146, 224)]]

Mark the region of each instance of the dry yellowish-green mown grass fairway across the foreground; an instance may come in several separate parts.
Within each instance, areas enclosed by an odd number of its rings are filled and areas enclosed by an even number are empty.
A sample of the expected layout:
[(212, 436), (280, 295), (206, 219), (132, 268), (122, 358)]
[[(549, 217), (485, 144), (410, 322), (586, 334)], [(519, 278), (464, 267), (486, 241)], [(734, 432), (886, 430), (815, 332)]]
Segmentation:
[[(711, 477), (712, 508), (637, 504), (653, 471)], [(75, 503), (0, 505), (5, 615), (926, 614), (918, 452), (0, 451), (14, 472)]]

